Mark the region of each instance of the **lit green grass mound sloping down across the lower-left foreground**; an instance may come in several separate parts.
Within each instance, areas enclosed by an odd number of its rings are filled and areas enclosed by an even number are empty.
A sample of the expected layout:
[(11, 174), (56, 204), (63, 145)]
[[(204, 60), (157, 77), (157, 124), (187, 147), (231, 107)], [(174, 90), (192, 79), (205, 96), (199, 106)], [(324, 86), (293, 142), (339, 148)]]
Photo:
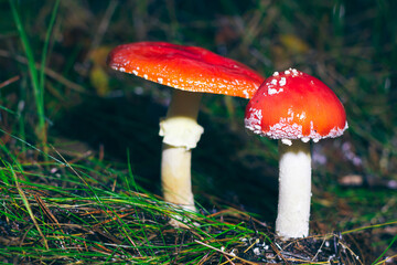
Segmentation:
[[(260, 256), (253, 259), (254, 248), (278, 247), (264, 223), (236, 209), (186, 218), (150, 193), (124, 190), (118, 184), (124, 173), (112, 171), (116, 184), (106, 186), (97, 181), (104, 178), (101, 171), (78, 165), (50, 167), (46, 174), (35, 172), (42, 171), (37, 165), (3, 167), (0, 212), (7, 235), (1, 244), (7, 247), (0, 254), (4, 263), (222, 264), (235, 259), (254, 264), (260, 261)], [(190, 229), (170, 226), (170, 218), (176, 216)], [(286, 261), (299, 259), (285, 255)], [(351, 253), (341, 256), (352, 258)]]

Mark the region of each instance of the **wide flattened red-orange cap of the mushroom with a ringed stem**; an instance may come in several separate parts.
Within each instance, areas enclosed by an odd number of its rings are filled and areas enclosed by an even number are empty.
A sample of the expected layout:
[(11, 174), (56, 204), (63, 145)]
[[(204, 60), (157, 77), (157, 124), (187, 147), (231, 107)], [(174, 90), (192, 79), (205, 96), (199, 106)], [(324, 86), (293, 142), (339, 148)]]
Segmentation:
[(189, 92), (250, 98), (265, 77), (248, 66), (203, 47), (138, 42), (115, 47), (108, 65)]

